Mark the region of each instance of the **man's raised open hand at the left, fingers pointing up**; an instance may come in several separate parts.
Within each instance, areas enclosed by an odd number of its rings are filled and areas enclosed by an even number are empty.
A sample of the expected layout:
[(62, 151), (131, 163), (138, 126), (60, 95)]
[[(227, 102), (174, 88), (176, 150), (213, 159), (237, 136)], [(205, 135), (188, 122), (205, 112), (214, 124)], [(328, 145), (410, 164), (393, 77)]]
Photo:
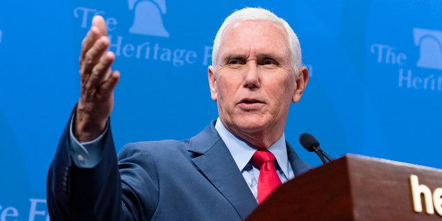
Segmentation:
[(113, 89), (117, 85), (119, 72), (111, 70), (115, 55), (107, 51), (109, 44), (104, 19), (95, 16), (81, 42), (79, 57), (81, 84), (74, 127), (79, 142), (97, 138), (106, 127), (113, 109)]

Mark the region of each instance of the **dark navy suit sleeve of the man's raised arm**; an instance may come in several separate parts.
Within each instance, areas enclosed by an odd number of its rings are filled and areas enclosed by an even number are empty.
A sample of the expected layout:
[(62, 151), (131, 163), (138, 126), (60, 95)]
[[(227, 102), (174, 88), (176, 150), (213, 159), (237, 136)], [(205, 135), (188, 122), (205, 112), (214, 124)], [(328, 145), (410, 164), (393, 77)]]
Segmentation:
[(131, 220), (122, 212), (122, 182), (110, 126), (103, 138), (97, 165), (80, 168), (70, 157), (69, 124), (64, 129), (46, 183), (51, 220)]

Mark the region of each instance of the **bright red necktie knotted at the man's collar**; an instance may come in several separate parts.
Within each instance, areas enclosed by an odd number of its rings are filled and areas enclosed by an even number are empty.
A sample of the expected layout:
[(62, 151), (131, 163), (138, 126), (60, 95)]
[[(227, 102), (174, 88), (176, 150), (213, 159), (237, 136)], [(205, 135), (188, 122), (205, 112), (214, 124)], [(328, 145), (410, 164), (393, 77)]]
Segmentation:
[(258, 177), (258, 204), (261, 204), (271, 192), (282, 184), (278, 173), (276, 173), (275, 156), (269, 151), (256, 151), (251, 160), (260, 169)]

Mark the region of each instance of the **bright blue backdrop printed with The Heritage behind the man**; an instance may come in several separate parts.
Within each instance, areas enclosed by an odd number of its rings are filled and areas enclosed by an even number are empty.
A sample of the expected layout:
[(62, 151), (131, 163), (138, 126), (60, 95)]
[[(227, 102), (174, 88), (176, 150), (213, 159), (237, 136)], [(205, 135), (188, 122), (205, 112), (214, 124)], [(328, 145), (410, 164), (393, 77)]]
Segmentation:
[(311, 79), (286, 137), (441, 168), (442, 1), (0, 1), (0, 221), (48, 220), (46, 172), (79, 95), (78, 56), (106, 19), (122, 73), (115, 143), (184, 139), (218, 117), (206, 69), (223, 19), (260, 6), (300, 39)]

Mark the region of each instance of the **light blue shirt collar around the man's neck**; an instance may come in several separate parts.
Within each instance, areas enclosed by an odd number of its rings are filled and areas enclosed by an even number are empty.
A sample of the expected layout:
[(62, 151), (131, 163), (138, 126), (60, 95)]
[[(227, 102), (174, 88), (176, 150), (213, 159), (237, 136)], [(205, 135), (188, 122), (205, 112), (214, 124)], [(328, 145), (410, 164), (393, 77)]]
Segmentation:
[[(218, 131), (222, 141), (226, 144), (227, 148), (235, 160), (238, 169), (242, 171), (244, 167), (249, 163), (253, 153), (255, 153), (256, 148), (247, 144), (240, 138), (233, 135), (227, 128), (222, 124), (220, 117), (216, 120), (215, 129)], [(287, 158), (287, 147), (285, 145), (285, 135), (282, 136), (271, 146), (269, 151), (275, 155), (276, 161), (278, 162), (280, 169), (289, 177), (289, 160)]]

